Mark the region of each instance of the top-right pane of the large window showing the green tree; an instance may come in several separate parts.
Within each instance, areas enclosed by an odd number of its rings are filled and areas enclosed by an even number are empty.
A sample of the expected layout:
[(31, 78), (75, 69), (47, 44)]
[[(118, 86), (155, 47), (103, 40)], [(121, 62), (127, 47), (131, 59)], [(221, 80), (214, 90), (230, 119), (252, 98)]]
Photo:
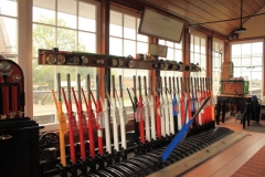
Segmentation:
[(96, 7), (80, 2), (78, 29), (96, 32)]

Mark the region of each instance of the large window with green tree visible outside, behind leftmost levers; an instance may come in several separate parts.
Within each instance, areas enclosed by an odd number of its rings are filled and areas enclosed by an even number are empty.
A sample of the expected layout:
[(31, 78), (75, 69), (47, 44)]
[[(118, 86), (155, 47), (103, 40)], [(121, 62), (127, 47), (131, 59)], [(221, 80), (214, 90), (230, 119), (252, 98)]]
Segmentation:
[[(80, 73), (84, 88), (86, 75), (91, 74), (92, 85), (95, 85), (96, 74), (93, 67), (39, 65), (38, 49), (56, 46), (63, 51), (96, 53), (98, 18), (98, 4), (94, 1), (33, 0), (33, 117), (38, 123), (56, 123), (51, 93), (52, 88), (56, 90), (56, 73), (61, 73), (62, 86), (66, 86), (66, 74), (71, 73), (73, 87)], [(73, 104), (74, 112), (75, 107)]]

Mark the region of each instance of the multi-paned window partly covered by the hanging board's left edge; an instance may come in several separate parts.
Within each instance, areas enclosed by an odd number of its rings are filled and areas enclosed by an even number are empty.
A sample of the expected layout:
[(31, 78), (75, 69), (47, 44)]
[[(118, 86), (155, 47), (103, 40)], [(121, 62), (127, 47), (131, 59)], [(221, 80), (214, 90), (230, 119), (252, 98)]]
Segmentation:
[[(140, 24), (140, 15), (137, 13), (128, 13), (123, 10), (112, 7), (110, 24), (109, 24), (109, 54), (128, 56), (136, 56), (136, 53), (147, 54), (148, 52), (148, 37), (138, 34), (138, 27)], [(118, 75), (123, 77), (124, 100), (125, 105), (131, 107), (131, 102), (127, 93), (127, 87), (131, 88), (132, 75), (141, 76), (141, 86), (144, 87), (144, 75), (147, 76), (148, 70), (134, 69), (112, 69), (112, 75), (115, 75), (115, 85), (119, 90)], [(113, 82), (113, 81), (112, 81)], [(144, 93), (144, 92), (142, 92)], [(138, 94), (138, 92), (137, 92)]]

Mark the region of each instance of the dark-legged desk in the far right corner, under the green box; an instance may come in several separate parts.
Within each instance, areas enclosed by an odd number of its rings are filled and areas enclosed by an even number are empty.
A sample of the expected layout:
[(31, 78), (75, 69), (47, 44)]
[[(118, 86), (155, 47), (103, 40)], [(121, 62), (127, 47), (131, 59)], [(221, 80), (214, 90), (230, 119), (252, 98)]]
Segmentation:
[[(225, 116), (225, 105), (230, 103), (230, 100), (236, 95), (227, 95), (227, 94), (220, 94), (218, 95), (218, 105), (216, 105), (216, 114), (215, 114), (215, 121), (216, 125), (220, 123), (220, 114), (221, 114), (221, 108), (222, 108), (222, 123), (224, 123), (224, 116)], [(245, 128), (245, 122), (247, 121), (247, 126), (251, 124), (251, 104), (252, 104), (252, 96), (251, 95), (245, 95), (246, 100), (246, 112), (244, 114), (244, 117), (242, 119), (243, 128)]]

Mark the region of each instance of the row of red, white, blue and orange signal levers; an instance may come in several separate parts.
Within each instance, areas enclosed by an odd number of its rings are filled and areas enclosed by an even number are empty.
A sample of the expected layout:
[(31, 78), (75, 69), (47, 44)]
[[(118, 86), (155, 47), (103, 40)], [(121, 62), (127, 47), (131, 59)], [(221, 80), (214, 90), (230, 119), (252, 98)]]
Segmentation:
[[(115, 85), (115, 76), (112, 76), (112, 92), (107, 88), (109, 84), (107, 76), (104, 76), (104, 85), (99, 86), (99, 77), (96, 75), (95, 95), (91, 91), (89, 75), (86, 77), (87, 93), (81, 87), (80, 74), (76, 92), (71, 86), (71, 75), (67, 74), (66, 79), (65, 91), (61, 87), (59, 73), (57, 96), (53, 91), (60, 122), (61, 163), (57, 165), (56, 162), (51, 163), (51, 158), (49, 158), (50, 162), (47, 160), (47, 164), (55, 164), (61, 176), (95, 173), (97, 169), (105, 168), (106, 165), (126, 160), (131, 149), (137, 156), (169, 144), (181, 127), (189, 122), (204, 98), (213, 97), (211, 79), (158, 76), (156, 87), (153, 87), (152, 77), (149, 77), (149, 84), (147, 84), (146, 76), (142, 79), (138, 76), (138, 81), (136, 76), (132, 76), (134, 86), (127, 88), (127, 92), (132, 104), (135, 131), (134, 138), (129, 138), (128, 131), (126, 131), (129, 118), (125, 107), (121, 75), (118, 76), (118, 88)], [(105, 95), (99, 94), (103, 87)], [(78, 122), (73, 114), (72, 96), (76, 105)], [(62, 100), (66, 105), (66, 116), (62, 111)], [(85, 102), (86, 111), (83, 111), (82, 101)], [(213, 117), (214, 105), (211, 98), (195, 117), (189, 134), (198, 134), (214, 127)], [(64, 142), (67, 133), (70, 145), (65, 145)], [(75, 134), (78, 134), (78, 143), (75, 142)], [(88, 134), (87, 138), (86, 134)], [(43, 176), (54, 173), (54, 170), (49, 170), (47, 166), (43, 165)], [(52, 168), (51, 165), (49, 167)]]

